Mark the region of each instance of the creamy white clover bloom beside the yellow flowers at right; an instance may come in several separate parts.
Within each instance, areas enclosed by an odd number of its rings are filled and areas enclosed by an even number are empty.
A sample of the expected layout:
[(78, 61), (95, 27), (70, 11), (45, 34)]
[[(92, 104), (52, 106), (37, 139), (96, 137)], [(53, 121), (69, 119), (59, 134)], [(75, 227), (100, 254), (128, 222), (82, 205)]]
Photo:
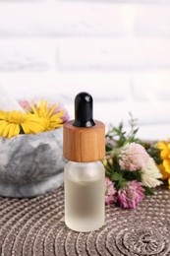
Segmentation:
[(162, 177), (160, 170), (155, 164), (155, 161), (149, 158), (146, 167), (141, 169), (142, 174), (142, 185), (146, 187), (156, 187), (162, 184), (162, 181), (158, 178)]

